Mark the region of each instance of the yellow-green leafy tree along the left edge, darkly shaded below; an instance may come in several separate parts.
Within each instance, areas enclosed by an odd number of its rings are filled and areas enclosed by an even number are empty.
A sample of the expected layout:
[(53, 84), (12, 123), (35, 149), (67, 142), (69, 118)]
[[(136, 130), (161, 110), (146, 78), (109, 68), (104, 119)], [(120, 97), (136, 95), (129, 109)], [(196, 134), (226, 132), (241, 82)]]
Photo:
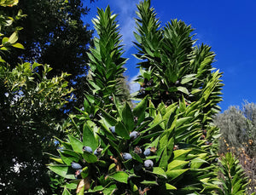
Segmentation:
[[(1, 6), (12, 7), (18, 1), (1, 1)], [(20, 12), (17, 16), (20, 18)], [(7, 34), (13, 18), (1, 14), (0, 57), (0, 186), (4, 194), (49, 193), (49, 174), (43, 152), (55, 148), (53, 135), (61, 136), (60, 108), (72, 92), (65, 80), (67, 73), (49, 78), (48, 65), (20, 63), (14, 68), (3, 60), (17, 43), (18, 30)], [(4, 34), (6, 33), (6, 34)], [(41, 68), (41, 74), (38, 69)]]

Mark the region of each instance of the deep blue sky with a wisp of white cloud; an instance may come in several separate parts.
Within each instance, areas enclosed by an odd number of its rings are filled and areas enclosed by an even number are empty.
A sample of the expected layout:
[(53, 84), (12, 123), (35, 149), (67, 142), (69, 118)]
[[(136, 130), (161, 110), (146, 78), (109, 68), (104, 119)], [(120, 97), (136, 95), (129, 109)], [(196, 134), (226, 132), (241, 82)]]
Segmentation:
[[(86, 1), (87, 2), (87, 1)], [(129, 58), (125, 75), (137, 76), (137, 52), (132, 46), (135, 31), (136, 4), (139, 0), (98, 0), (91, 3), (90, 14), (85, 17), (92, 28), (90, 19), (96, 16), (96, 7), (107, 5), (114, 14), (119, 14), (120, 32), (125, 44), (124, 57)], [(164, 26), (172, 19), (183, 20), (195, 29), (198, 43), (212, 46), (216, 62), (212, 66), (224, 72), (222, 111), (229, 106), (241, 106), (243, 100), (256, 102), (256, 1), (255, 0), (151, 0), (151, 4)], [(131, 85), (135, 88), (136, 85)]]

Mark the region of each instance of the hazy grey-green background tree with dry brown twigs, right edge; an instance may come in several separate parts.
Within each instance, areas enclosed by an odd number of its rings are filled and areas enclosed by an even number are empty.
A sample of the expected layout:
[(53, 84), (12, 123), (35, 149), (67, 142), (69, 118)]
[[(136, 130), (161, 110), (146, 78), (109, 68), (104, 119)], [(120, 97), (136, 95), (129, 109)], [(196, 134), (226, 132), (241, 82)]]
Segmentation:
[(256, 105), (246, 101), (241, 109), (239, 106), (230, 106), (214, 118), (214, 123), (221, 133), (219, 152), (232, 152), (236, 155), (251, 181), (247, 187), (248, 192), (255, 192)]

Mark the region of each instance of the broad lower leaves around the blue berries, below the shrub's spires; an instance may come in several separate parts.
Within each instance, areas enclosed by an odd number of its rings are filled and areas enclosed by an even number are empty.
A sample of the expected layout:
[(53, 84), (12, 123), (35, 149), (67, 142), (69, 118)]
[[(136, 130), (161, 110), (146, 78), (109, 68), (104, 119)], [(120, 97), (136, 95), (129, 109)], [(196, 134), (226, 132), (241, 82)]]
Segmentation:
[[(68, 179), (65, 187), (70, 191), (74, 189), (70, 184), (77, 183), (77, 189), (85, 186), (87, 193), (137, 194), (150, 189), (150, 194), (212, 194), (212, 190), (218, 189), (214, 179), (216, 156), (212, 152), (217, 145), (200, 140), (199, 115), (192, 109), (195, 103), (187, 107), (151, 107), (152, 114), (138, 112), (147, 109), (147, 101), (144, 99), (133, 110), (127, 104), (115, 105), (120, 110), (117, 118), (103, 110), (99, 120), (84, 118), (83, 125), (76, 125), (78, 138), (68, 135), (67, 141), (60, 141), (61, 156), (54, 158), (49, 169)], [(115, 132), (110, 130), (113, 126)], [(135, 138), (131, 136), (134, 132), (138, 132)], [(102, 152), (83, 152), (83, 146), (90, 146), (92, 151), (101, 148)], [(148, 147), (151, 154), (145, 156), (143, 152)], [(125, 153), (130, 153), (131, 159), (125, 159)], [(154, 163), (152, 169), (144, 165), (148, 159)], [(79, 175), (78, 170), (71, 168), (73, 161), (82, 166)], [(77, 175), (77, 180), (73, 180), (73, 175)]]

